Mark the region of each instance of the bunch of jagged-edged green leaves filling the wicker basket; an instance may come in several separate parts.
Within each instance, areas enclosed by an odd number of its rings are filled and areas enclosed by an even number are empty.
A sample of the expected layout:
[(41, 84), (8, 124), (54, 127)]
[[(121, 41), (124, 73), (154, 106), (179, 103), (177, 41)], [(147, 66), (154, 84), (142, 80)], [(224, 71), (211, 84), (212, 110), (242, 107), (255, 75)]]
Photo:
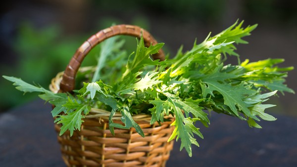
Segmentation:
[[(293, 67), (276, 66), (283, 59), (224, 64), (227, 55), (239, 59), (234, 44), (247, 43), (242, 38), (256, 28), (256, 25), (242, 28), (242, 24), (236, 22), (213, 37), (209, 34), (200, 44), (195, 42), (190, 51), (182, 52), (181, 48), (173, 59), (165, 61), (150, 58), (164, 43), (145, 47), (141, 38), (136, 52), (126, 56), (121, 50), (123, 42), (111, 39), (102, 45), (95, 74), (92, 70), (83, 73), (88, 76), (92, 73), (91, 82), (83, 83), (74, 94), (53, 93), (21, 79), (3, 77), (21, 91), (40, 92), (42, 99), (53, 104), (52, 116), (56, 117), (57, 124), (62, 124), (60, 134), (69, 130), (72, 135), (74, 130), (80, 130), (91, 108), (110, 111), (112, 133), (114, 127), (134, 127), (143, 137), (144, 132), (132, 115), (149, 114), (150, 124), (164, 122), (164, 116), (174, 115), (175, 129), (169, 141), (181, 139), (181, 149), (185, 147), (192, 156), (191, 145), (198, 146), (194, 133), (203, 138), (195, 123), (209, 124), (207, 110), (237, 117), (247, 121), (250, 127), (261, 128), (256, 121), (276, 120), (264, 112), (274, 105), (262, 103), (277, 91), (294, 93), (284, 84), (286, 72)], [(126, 62), (125, 57), (128, 57)], [(113, 123), (112, 117), (117, 112), (121, 113), (123, 124)]]

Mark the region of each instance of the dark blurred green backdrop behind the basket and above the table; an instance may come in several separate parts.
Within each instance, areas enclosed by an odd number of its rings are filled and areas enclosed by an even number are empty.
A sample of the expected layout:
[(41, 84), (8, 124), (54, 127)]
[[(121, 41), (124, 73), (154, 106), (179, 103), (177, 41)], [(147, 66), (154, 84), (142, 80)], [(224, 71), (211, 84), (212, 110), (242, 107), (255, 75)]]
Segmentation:
[[(190, 49), (195, 39), (201, 42), (237, 19), (245, 20), (245, 26), (259, 24), (246, 38), (249, 44), (238, 46), (242, 60), (285, 58), (284, 67), (296, 67), (296, 0), (14, 0), (1, 5), (0, 75), (48, 87), (85, 40), (113, 23), (147, 29), (174, 55), (180, 45)], [(127, 38), (126, 44), (132, 51), (136, 40)], [(84, 64), (95, 65), (98, 53), (99, 47)], [(287, 84), (297, 91), (296, 70), (289, 72)], [(279, 96), (271, 99), (277, 107), (270, 112), (297, 116), (297, 96)], [(36, 97), (23, 96), (0, 78), (0, 112)]]

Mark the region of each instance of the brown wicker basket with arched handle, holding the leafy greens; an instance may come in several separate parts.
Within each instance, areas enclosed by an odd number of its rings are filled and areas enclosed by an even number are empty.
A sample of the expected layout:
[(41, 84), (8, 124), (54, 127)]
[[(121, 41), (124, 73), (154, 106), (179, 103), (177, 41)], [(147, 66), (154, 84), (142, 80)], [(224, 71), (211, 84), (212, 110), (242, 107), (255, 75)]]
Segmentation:
[[(130, 35), (140, 37), (141, 33), (146, 46), (157, 42), (149, 33), (140, 27), (131, 25), (117, 25), (99, 31), (84, 42), (72, 57), (64, 73), (59, 73), (51, 82), (53, 92), (71, 92), (75, 85), (75, 76), (80, 64), (88, 52), (99, 42), (115, 36)], [(164, 60), (162, 50), (152, 56), (154, 59)], [(141, 126), (146, 137), (140, 136), (134, 128), (114, 129), (113, 136), (108, 128), (110, 112), (93, 108), (85, 117), (80, 131), (73, 136), (66, 131), (58, 135), (61, 145), (62, 158), (68, 167), (164, 167), (169, 153), (173, 148), (173, 141), (167, 142), (174, 127), (170, 122), (150, 125), (150, 116), (139, 114), (133, 116)], [(121, 124), (121, 115), (113, 117), (115, 123)], [(59, 134), (60, 125), (55, 125)]]

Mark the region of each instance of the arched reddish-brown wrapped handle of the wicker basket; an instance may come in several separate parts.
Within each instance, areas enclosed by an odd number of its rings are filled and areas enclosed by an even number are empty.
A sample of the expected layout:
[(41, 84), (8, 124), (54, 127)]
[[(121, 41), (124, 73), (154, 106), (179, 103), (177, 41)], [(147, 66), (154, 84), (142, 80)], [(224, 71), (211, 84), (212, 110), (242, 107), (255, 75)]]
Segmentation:
[[(91, 36), (76, 50), (76, 52), (72, 56), (69, 64), (66, 67), (66, 70), (64, 71), (63, 78), (60, 83), (59, 92), (70, 92), (74, 90), (76, 73), (86, 55), (97, 44), (116, 35), (129, 35), (140, 38), (141, 33), (143, 35), (144, 42), (147, 47), (150, 46), (150, 44), (157, 44), (156, 40), (146, 30), (133, 25), (111, 26)], [(160, 49), (158, 53), (152, 55), (152, 58), (154, 60), (160, 59), (160, 61), (163, 61), (165, 59), (163, 50)]]

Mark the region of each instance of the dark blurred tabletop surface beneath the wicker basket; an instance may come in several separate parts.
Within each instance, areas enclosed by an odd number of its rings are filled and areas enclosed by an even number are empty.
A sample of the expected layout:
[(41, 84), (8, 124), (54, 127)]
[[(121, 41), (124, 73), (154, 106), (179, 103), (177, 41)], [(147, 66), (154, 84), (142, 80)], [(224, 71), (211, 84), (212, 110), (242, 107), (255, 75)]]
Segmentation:
[[(256, 129), (213, 113), (193, 157), (177, 142), (167, 167), (297, 167), (297, 119), (276, 117)], [(49, 104), (37, 100), (0, 114), (0, 167), (65, 167)]]

